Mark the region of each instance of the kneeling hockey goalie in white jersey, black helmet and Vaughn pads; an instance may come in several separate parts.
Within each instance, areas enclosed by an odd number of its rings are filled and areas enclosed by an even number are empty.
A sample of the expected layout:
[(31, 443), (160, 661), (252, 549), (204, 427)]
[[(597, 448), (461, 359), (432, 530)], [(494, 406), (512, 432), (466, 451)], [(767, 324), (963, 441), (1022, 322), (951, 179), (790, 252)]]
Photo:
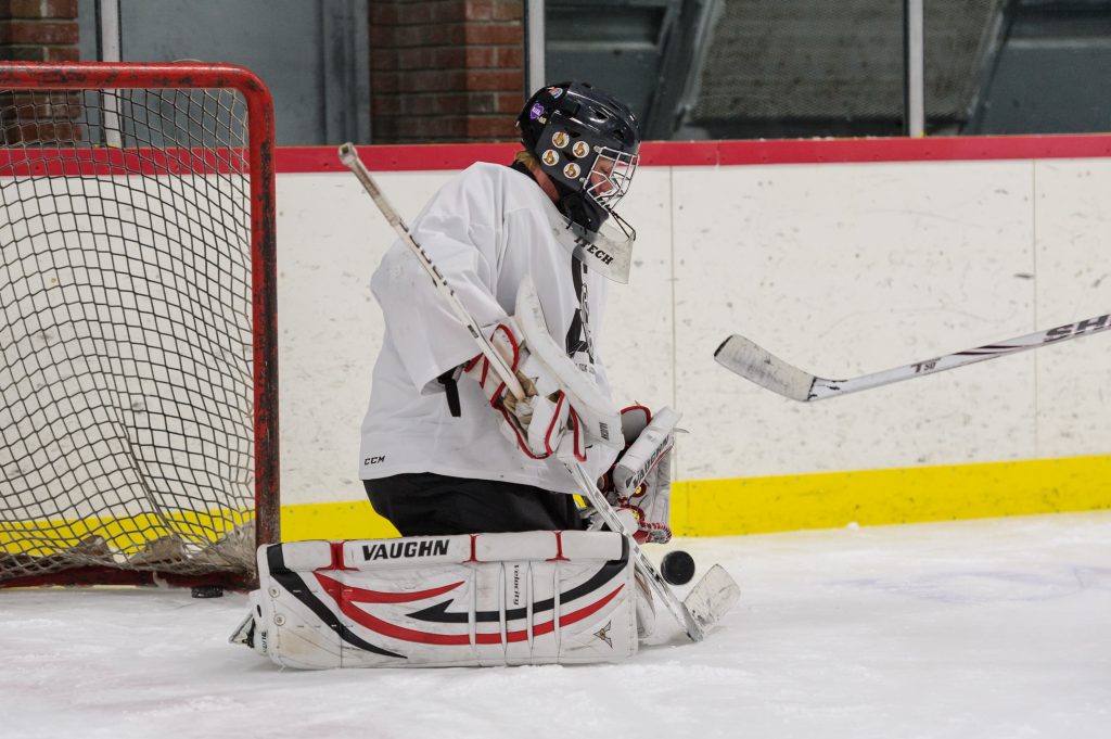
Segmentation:
[[(629, 535), (671, 538), (678, 415), (619, 411), (595, 343), (608, 282), (631, 264), (635, 232), (613, 208), (638, 122), (568, 82), (533, 94), (518, 127), (512, 166), (461, 172), (410, 231), (498, 356), (476, 352), (413, 244), (396, 242), (371, 280), (386, 340), (360, 459), (402, 538), (259, 550), (261, 588), (234, 639), (279, 665), (615, 661), (653, 628)], [(623, 532), (577, 503), (569, 465), (601, 481)]]

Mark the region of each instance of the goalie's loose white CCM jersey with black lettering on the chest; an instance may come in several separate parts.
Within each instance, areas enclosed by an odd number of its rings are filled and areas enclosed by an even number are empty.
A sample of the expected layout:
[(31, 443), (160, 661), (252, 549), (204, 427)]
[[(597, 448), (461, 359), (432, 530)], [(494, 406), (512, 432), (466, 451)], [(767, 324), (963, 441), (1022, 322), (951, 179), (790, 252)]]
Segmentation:
[[(411, 232), (483, 329), (513, 312), (518, 286), (530, 277), (550, 334), (609, 397), (595, 343), (608, 280), (571, 256), (574, 234), (565, 224), (528, 176), (480, 162), (432, 198)], [(577, 491), (560, 466), (528, 459), (502, 436), (477, 382), (459, 379), (458, 406), (450, 402), (441, 378), (478, 353), (474, 339), (400, 241), (371, 290), (386, 339), (362, 425), (360, 477), (433, 472)], [(588, 449), (587, 471), (600, 477), (614, 456)]]

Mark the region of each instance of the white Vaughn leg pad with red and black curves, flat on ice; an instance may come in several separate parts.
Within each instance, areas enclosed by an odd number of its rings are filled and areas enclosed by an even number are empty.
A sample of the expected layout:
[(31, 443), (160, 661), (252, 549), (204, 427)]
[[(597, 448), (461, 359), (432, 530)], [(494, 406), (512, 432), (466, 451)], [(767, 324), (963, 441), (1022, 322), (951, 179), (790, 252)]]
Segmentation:
[(629, 555), (609, 531), (263, 546), (231, 641), (306, 669), (619, 661), (637, 652)]

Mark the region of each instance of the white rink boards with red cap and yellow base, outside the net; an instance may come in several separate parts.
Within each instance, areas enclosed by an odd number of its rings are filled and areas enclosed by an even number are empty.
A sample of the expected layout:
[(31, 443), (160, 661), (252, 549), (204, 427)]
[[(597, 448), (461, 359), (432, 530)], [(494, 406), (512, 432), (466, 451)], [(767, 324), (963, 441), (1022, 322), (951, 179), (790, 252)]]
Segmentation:
[[(406, 218), (512, 144), (366, 147)], [(851, 377), (1111, 307), (1111, 137), (649, 143), (600, 352), (621, 402), (669, 405), (685, 535), (1111, 507), (1099, 336), (802, 405), (720, 368), (743, 333)], [(286, 538), (381, 536), (357, 479), (392, 232), (330, 148), (278, 152)]]

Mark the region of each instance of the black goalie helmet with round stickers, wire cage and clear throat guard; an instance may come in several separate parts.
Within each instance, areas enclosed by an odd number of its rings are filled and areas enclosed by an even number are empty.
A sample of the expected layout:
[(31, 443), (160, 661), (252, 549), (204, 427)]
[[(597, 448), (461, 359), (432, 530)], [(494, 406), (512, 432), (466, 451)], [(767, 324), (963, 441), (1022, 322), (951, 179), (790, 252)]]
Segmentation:
[[(521, 142), (556, 184), (569, 226), (591, 243), (601, 239), (613, 248), (615, 238), (631, 246), (637, 232), (613, 210), (639, 160), (640, 126), (629, 107), (585, 82), (561, 82), (529, 98), (517, 124)], [(610, 217), (620, 236), (603, 234)]]

